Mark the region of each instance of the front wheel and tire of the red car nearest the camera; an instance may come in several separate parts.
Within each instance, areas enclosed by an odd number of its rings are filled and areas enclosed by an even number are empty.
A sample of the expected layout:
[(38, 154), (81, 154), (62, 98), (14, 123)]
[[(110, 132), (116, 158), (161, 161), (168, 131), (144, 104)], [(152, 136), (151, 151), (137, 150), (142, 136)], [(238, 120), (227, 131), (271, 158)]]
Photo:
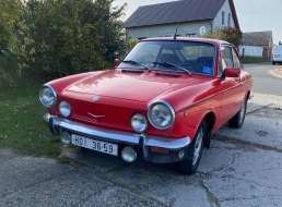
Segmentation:
[(207, 136), (207, 122), (202, 120), (192, 143), (188, 147), (188, 156), (185, 160), (177, 162), (178, 171), (185, 175), (193, 174), (200, 163), (204, 139)]

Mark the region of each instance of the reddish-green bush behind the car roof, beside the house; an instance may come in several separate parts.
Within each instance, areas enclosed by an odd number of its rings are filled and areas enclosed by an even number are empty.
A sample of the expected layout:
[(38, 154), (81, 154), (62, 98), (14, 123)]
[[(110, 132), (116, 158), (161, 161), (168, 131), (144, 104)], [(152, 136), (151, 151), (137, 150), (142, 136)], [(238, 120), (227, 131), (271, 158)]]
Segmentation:
[(242, 39), (242, 32), (237, 28), (227, 26), (227, 27), (220, 27), (220, 28), (210, 31), (203, 37), (222, 39), (238, 47)]

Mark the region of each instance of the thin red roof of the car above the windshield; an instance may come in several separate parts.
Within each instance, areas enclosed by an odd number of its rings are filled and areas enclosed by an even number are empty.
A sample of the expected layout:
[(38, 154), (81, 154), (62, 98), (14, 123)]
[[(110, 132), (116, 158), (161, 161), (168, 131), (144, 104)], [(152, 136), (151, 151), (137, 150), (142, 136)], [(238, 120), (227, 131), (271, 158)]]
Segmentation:
[(176, 39), (174, 39), (174, 37), (153, 37), (153, 38), (142, 39), (141, 41), (151, 41), (151, 40), (202, 41), (202, 42), (210, 42), (214, 45), (222, 45), (222, 44), (232, 45), (221, 39), (210, 39), (210, 38), (201, 38), (201, 37), (176, 37)]

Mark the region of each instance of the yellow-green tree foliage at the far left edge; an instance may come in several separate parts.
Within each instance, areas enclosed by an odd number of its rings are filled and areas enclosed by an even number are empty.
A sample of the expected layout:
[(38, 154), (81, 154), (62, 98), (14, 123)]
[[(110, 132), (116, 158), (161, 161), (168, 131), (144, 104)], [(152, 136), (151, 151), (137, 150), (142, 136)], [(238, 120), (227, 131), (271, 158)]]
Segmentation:
[[(26, 7), (21, 0), (0, 1), (0, 86), (13, 86), (11, 69), (26, 66), (25, 46), (30, 42)], [(9, 66), (7, 66), (9, 61)]]

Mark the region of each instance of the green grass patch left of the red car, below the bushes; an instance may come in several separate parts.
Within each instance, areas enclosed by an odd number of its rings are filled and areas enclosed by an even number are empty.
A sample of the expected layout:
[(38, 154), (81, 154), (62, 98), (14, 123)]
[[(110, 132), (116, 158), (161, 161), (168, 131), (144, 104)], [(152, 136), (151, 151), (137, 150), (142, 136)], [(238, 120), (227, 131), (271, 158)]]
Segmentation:
[(0, 147), (66, 162), (59, 157), (59, 137), (52, 136), (42, 120), (47, 110), (39, 102), (38, 89), (47, 78), (31, 71), (14, 78), (15, 88), (0, 89)]

